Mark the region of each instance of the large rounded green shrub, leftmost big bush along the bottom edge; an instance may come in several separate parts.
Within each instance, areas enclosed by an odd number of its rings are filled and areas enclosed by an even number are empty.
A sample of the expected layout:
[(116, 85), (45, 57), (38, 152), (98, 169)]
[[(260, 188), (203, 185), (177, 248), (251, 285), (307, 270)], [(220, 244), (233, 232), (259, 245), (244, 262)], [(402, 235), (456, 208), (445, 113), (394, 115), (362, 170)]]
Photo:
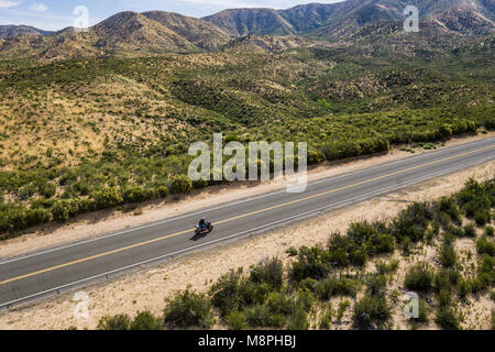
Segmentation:
[(166, 299), (164, 321), (178, 328), (210, 328), (213, 324), (211, 302), (204, 294), (186, 289)]

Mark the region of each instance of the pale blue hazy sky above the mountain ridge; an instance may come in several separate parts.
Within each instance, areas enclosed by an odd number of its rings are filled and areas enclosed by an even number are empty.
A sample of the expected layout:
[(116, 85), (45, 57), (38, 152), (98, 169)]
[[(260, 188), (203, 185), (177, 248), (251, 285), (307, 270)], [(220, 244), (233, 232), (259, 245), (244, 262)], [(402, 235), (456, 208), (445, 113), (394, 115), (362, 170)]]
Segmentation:
[(84, 6), (89, 10), (89, 24), (116, 12), (162, 10), (191, 16), (205, 16), (230, 8), (287, 9), (296, 4), (342, 0), (0, 0), (0, 25), (28, 24), (42, 30), (61, 30), (74, 25), (74, 9)]

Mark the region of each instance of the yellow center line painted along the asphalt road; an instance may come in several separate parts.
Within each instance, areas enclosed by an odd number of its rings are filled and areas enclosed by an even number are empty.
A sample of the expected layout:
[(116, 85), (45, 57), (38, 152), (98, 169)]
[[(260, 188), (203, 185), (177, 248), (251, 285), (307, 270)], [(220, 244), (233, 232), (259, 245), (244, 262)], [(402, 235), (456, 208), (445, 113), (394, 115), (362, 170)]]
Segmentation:
[[(293, 200), (293, 201), (288, 201), (288, 202), (285, 202), (285, 204), (277, 205), (277, 206), (273, 206), (273, 207), (264, 208), (264, 209), (261, 209), (261, 210), (252, 211), (252, 212), (249, 212), (249, 213), (244, 213), (242, 216), (233, 217), (233, 218), (230, 218), (230, 219), (227, 219), (227, 220), (217, 221), (217, 222), (215, 222), (215, 224), (221, 224), (221, 223), (226, 223), (226, 222), (231, 222), (231, 221), (234, 221), (234, 220), (252, 217), (252, 216), (255, 216), (255, 215), (261, 213), (261, 212), (265, 212), (265, 211), (270, 211), (270, 210), (274, 210), (274, 209), (278, 209), (278, 208), (284, 208), (284, 207), (287, 207), (287, 206), (290, 206), (290, 205), (294, 205), (294, 204), (298, 204), (298, 202), (302, 202), (302, 201), (306, 201), (306, 200), (315, 199), (315, 198), (318, 198), (318, 197), (322, 197), (322, 196), (326, 196), (326, 195), (330, 195), (330, 194), (333, 194), (333, 193), (337, 193), (337, 191), (340, 191), (340, 190), (349, 189), (349, 188), (361, 186), (361, 185), (364, 185), (364, 184), (370, 184), (372, 182), (380, 180), (380, 179), (383, 179), (383, 178), (386, 178), (386, 177), (405, 174), (405, 173), (414, 170), (414, 169), (424, 168), (424, 167), (427, 167), (427, 166), (430, 166), (430, 165), (435, 165), (435, 164), (439, 164), (439, 163), (442, 163), (442, 162), (446, 162), (446, 161), (450, 161), (450, 160), (453, 160), (453, 158), (458, 158), (458, 157), (461, 157), (461, 156), (474, 154), (474, 153), (477, 153), (477, 152), (481, 152), (481, 151), (485, 151), (485, 150), (488, 150), (488, 148), (492, 148), (492, 147), (495, 147), (495, 145), (491, 145), (491, 146), (479, 148), (479, 150), (475, 150), (475, 151), (472, 151), (472, 152), (466, 152), (466, 153), (462, 153), (462, 154), (459, 154), (459, 155), (446, 157), (446, 158), (442, 158), (442, 160), (439, 160), (439, 161), (436, 161), (436, 162), (430, 162), (430, 163), (421, 164), (421, 165), (418, 165), (418, 166), (409, 167), (409, 168), (406, 168), (406, 169), (403, 169), (403, 170), (398, 170), (398, 172), (395, 172), (395, 173), (391, 173), (391, 174), (387, 174), (387, 175), (377, 176), (377, 177), (370, 178), (370, 179), (366, 179), (366, 180), (362, 180), (360, 183), (355, 183), (355, 184), (348, 185), (348, 186), (344, 186), (344, 187), (330, 189), (330, 190), (327, 190), (327, 191), (323, 191), (323, 193), (320, 193), (320, 194), (317, 194), (317, 195), (314, 195), (314, 196), (299, 198), (299, 199), (296, 199), (296, 200)], [(160, 242), (160, 241), (163, 241), (163, 240), (166, 240), (166, 239), (170, 239), (170, 238), (175, 238), (175, 237), (178, 237), (178, 235), (182, 235), (182, 234), (186, 234), (186, 233), (188, 233), (190, 231), (193, 231), (193, 230), (185, 230), (185, 231), (167, 234), (167, 235), (154, 239), (154, 240), (135, 243), (135, 244), (132, 244), (132, 245), (123, 246), (123, 248), (116, 249), (116, 250), (112, 250), (112, 251), (108, 251), (108, 252), (105, 252), (105, 253), (100, 253), (100, 254), (87, 256), (87, 257), (84, 257), (84, 258), (79, 258), (79, 260), (76, 260), (76, 261), (73, 261), (73, 262), (68, 262), (68, 263), (64, 263), (64, 264), (61, 264), (61, 265), (47, 267), (47, 268), (34, 272), (34, 273), (30, 273), (30, 274), (12, 277), (12, 278), (6, 279), (3, 282), (0, 282), (0, 285), (6, 285), (6, 284), (12, 283), (12, 282), (21, 280), (23, 278), (36, 276), (36, 275), (44, 274), (44, 273), (47, 273), (47, 272), (53, 272), (53, 271), (56, 271), (56, 270), (59, 270), (59, 268), (64, 268), (64, 267), (67, 267), (67, 266), (72, 266), (72, 265), (75, 265), (75, 264), (80, 264), (80, 263), (85, 263), (85, 262), (88, 262), (88, 261), (97, 260), (97, 258), (102, 257), (102, 256), (107, 256), (107, 255), (111, 255), (111, 254), (129, 251), (129, 250), (132, 250), (132, 249), (135, 249), (135, 248), (140, 248), (140, 246), (143, 246), (143, 245), (156, 243), (156, 242)]]

